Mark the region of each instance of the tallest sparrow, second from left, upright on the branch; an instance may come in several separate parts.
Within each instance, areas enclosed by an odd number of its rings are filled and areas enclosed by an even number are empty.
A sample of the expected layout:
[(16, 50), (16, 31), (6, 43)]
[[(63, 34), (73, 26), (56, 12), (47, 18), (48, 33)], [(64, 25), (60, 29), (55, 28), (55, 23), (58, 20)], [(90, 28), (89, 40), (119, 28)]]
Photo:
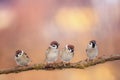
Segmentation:
[(59, 56), (59, 43), (57, 41), (52, 41), (50, 43), (50, 46), (48, 47), (48, 49), (46, 50), (46, 58), (45, 61), (48, 64), (52, 64), (55, 63), (58, 60), (58, 56)]

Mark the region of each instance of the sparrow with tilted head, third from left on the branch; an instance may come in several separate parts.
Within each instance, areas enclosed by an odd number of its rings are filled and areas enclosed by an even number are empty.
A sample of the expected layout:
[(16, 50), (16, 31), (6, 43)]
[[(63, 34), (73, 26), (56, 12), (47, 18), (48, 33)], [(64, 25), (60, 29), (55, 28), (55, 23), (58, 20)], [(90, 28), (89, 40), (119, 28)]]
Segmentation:
[(61, 51), (60, 56), (63, 63), (69, 63), (74, 56), (74, 46), (70, 44), (66, 45)]

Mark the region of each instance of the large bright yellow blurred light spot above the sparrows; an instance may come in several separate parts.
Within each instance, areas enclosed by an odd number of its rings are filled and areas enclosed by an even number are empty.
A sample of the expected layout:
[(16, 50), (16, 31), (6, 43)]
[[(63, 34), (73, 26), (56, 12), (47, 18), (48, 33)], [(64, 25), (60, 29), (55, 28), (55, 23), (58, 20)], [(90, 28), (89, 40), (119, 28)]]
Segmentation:
[(55, 21), (63, 30), (88, 31), (98, 19), (91, 8), (63, 7), (57, 11)]

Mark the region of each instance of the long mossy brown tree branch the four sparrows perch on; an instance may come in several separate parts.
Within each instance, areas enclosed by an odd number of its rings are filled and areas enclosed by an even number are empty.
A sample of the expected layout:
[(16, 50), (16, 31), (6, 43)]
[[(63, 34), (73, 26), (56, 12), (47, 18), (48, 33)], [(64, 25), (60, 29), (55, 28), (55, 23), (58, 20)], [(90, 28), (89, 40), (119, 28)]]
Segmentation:
[(115, 60), (120, 60), (120, 54), (102, 56), (95, 59), (94, 61), (82, 60), (77, 63), (70, 63), (70, 64), (56, 63), (52, 65), (35, 64), (31, 66), (26, 66), (26, 67), (5, 69), (5, 70), (0, 70), (0, 74), (19, 73), (19, 72), (29, 71), (29, 70), (54, 70), (54, 69), (64, 69), (64, 68), (84, 69), (90, 66), (94, 66), (96, 64), (101, 64), (101, 63), (105, 63), (108, 61), (115, 61)]

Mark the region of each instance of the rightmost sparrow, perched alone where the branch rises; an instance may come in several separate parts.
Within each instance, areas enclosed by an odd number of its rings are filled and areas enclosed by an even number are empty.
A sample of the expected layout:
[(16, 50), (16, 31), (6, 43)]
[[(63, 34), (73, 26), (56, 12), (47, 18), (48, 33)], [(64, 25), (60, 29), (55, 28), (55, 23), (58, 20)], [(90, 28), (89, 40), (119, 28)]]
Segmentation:
[(91, 40), (86, 49), (89, 60), (94, 60), (98, 56), (98, 47), (95, 40)]

